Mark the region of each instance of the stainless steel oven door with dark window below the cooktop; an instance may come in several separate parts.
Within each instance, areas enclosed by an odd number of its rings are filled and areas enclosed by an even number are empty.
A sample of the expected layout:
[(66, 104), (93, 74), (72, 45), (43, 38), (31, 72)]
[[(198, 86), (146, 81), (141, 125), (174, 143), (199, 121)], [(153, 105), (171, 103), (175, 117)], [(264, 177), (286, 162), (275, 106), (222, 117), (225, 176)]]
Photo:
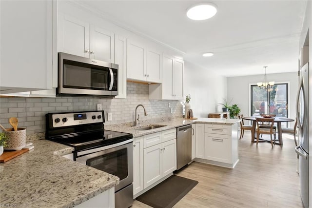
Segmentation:
[[(119, 177), (115, 192), (133, 182), (133, 139), (111, 146), (80, 151), (76, 161)], [(90, 152), (92, 151), (92, 152)]]

